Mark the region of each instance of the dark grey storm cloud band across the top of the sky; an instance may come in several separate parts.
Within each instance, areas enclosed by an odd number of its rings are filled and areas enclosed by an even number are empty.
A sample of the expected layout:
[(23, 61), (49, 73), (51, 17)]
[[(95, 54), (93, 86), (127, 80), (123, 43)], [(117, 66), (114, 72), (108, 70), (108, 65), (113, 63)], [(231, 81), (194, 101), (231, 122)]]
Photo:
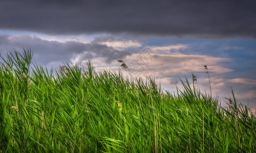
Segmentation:
[(0, 29), (47, 34), (125, 33), (256, 38), (256, 1), (0, 2)]

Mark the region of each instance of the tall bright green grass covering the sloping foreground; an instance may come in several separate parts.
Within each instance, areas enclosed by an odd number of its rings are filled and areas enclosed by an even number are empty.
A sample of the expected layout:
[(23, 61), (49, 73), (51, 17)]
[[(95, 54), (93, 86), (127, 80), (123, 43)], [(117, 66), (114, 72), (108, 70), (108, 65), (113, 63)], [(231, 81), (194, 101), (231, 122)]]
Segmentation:
[(154, 78), (46, 69), (30, 49), (1, 56), (0, 152), (255, 152), (255, 117), (188, 81), (178, 94)]

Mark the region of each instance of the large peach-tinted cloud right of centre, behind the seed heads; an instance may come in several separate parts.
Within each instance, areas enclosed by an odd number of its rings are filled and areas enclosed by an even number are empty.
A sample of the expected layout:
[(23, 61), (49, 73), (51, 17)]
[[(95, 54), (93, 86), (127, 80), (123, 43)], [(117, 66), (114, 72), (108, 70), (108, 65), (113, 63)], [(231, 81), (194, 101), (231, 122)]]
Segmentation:
[(126, 56), (124, 61), (142, 74), (154, 74), (155, 77), (164, 77), (165, 75), (179, 75), (188, 72), (205, 72), (203, 65), (207, 65), (212, 73), (225, 73), (233, 71), (232, 69), (219, 66), (219, 62), (228, 61), (226, 58), (216, 58), (201, 55), (163, 55), (157, 54), (153, 57), (150, 54), (132, 54)]

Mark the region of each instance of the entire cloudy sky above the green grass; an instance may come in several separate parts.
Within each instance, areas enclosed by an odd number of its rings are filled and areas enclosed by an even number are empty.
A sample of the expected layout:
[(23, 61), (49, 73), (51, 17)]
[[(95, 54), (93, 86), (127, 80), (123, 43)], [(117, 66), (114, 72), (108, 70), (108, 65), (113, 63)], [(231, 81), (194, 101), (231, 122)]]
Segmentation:
[[(233, 90), (256, 109), (256, 1), (0, 1), (1, 56), (31, 47), (33, 62), (70, 61), (152, 76), (174, 92), (195, 74), (222, 106)], [(122, 70), (124, 73), (127, 71)], [(232, 89), (232, 90), (231, 90)]]

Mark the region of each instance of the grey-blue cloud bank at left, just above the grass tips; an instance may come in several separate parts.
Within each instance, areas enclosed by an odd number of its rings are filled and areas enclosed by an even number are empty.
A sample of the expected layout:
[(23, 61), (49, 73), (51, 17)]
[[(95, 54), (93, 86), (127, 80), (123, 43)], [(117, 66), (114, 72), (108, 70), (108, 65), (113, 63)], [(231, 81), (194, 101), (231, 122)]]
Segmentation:
[[(66, 62), (74, 56), (81, 56), (82, 60), (91, 60), (93, 58), (103, 58), (104, 62), (122, 59), (130, 53), (113, 47), (98, 43), (81, 43), (75, 41), (48, 41), (39, 37), (31, 37), (29, 35), (8, 35), (0, 34), (0, 50), (2, 55), (6, 53), (6, 49), (21, 49), (21, 47), (30, 47), (34, 52), (34, 61), (39, 64), (49, 64), (51, 62)], [(6, 49), (5, 49), (6, 48)]]

